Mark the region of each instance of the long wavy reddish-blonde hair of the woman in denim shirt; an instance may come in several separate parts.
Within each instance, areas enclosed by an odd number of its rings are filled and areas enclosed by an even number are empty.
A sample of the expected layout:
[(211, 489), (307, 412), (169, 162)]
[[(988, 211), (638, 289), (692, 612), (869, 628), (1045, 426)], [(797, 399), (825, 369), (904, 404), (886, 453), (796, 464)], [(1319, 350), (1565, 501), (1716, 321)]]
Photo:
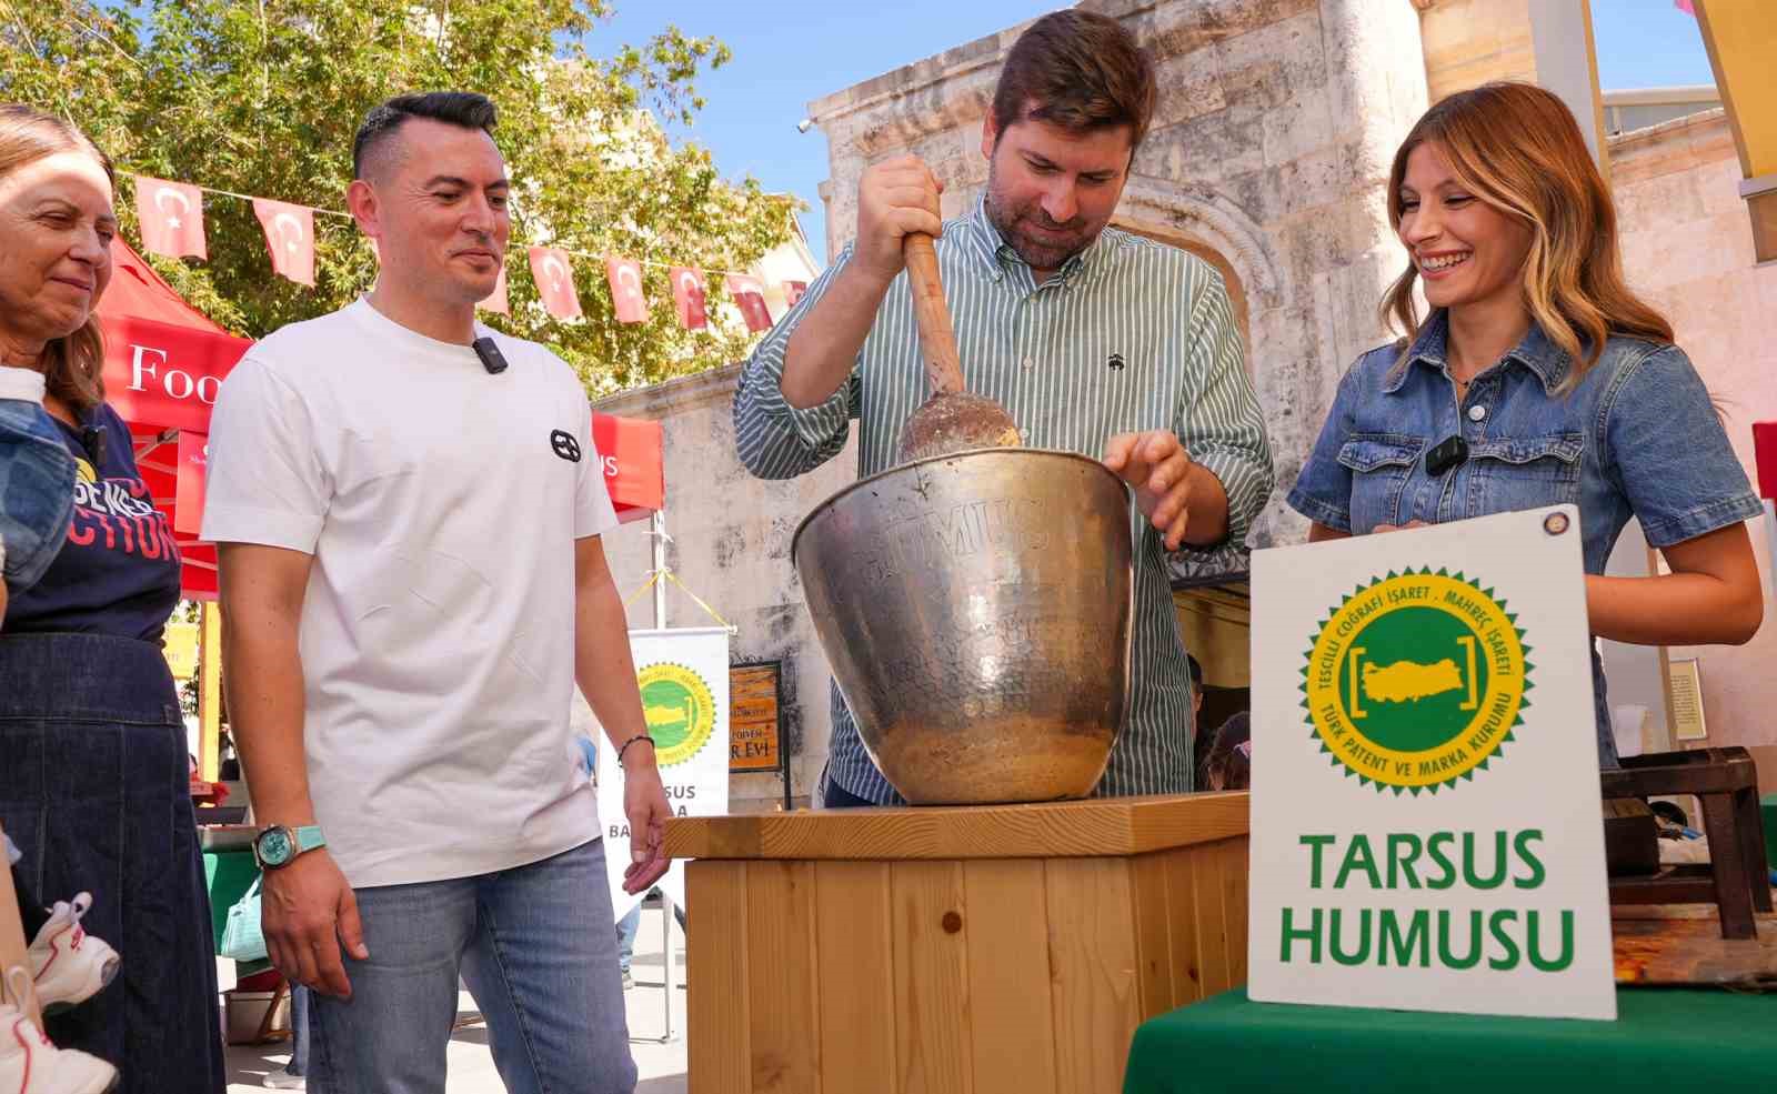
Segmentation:
[[(1471, 194), (1530, 224), (1525, 305), (1574, 362), (1562, 391), (1598, 364), (1612, 334), (1672, 341), (1672, 325), (1622, 279), (1617, 211), (1566, 103), (1530, 83), (1486, 83), (1427, 110), (1388, 172), (1388, 224), (1397, 233), (1407, 156), (1422, 144), (1436, 144)], [(1407, 336), (1402, 346), (1420, 332), (1414, 281), (1409, 261), (1383, 297), (1383, 321)]]

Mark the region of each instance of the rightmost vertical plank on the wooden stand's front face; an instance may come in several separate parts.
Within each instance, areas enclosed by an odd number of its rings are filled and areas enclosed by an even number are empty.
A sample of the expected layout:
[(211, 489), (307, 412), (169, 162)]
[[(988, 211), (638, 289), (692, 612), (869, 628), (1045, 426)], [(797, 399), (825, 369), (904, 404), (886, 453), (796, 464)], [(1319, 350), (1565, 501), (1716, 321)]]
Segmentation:
[(1141, 1025), (1128, 863), (1048, 860), (1048, 954), (1056, 1082), (1068, 1094), (1120, 1094)]

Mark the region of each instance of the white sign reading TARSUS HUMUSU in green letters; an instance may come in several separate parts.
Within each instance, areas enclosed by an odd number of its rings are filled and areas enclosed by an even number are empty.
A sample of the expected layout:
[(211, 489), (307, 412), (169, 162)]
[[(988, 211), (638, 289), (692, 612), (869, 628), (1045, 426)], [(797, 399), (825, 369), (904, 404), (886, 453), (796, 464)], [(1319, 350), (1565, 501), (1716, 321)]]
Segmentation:
[(1615, 1018), (1573, 506), (1253, 554), (1251, 998)]

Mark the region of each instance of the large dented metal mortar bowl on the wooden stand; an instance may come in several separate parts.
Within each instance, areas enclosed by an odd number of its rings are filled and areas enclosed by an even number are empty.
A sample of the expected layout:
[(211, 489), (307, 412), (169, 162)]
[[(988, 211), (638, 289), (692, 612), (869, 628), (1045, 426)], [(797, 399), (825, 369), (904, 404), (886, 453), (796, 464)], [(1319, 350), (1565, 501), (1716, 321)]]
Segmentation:
[(864, 746), (915, 805), (1098, 785), (1128, 694), (1128, 494), (1073, 453), (995, 448), (860, 480), (791, 547)]

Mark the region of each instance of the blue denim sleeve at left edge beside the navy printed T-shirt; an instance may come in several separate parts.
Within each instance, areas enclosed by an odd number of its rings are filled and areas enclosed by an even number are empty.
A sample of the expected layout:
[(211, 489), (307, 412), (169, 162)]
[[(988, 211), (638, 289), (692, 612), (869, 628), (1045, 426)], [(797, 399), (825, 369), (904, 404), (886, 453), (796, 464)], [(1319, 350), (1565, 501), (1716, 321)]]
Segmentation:
[(0, 549), (7, 588), (37, 584), (62, 549), (73, 515), (75, 458), (55, 421), (37, 403), (0, 400)]

